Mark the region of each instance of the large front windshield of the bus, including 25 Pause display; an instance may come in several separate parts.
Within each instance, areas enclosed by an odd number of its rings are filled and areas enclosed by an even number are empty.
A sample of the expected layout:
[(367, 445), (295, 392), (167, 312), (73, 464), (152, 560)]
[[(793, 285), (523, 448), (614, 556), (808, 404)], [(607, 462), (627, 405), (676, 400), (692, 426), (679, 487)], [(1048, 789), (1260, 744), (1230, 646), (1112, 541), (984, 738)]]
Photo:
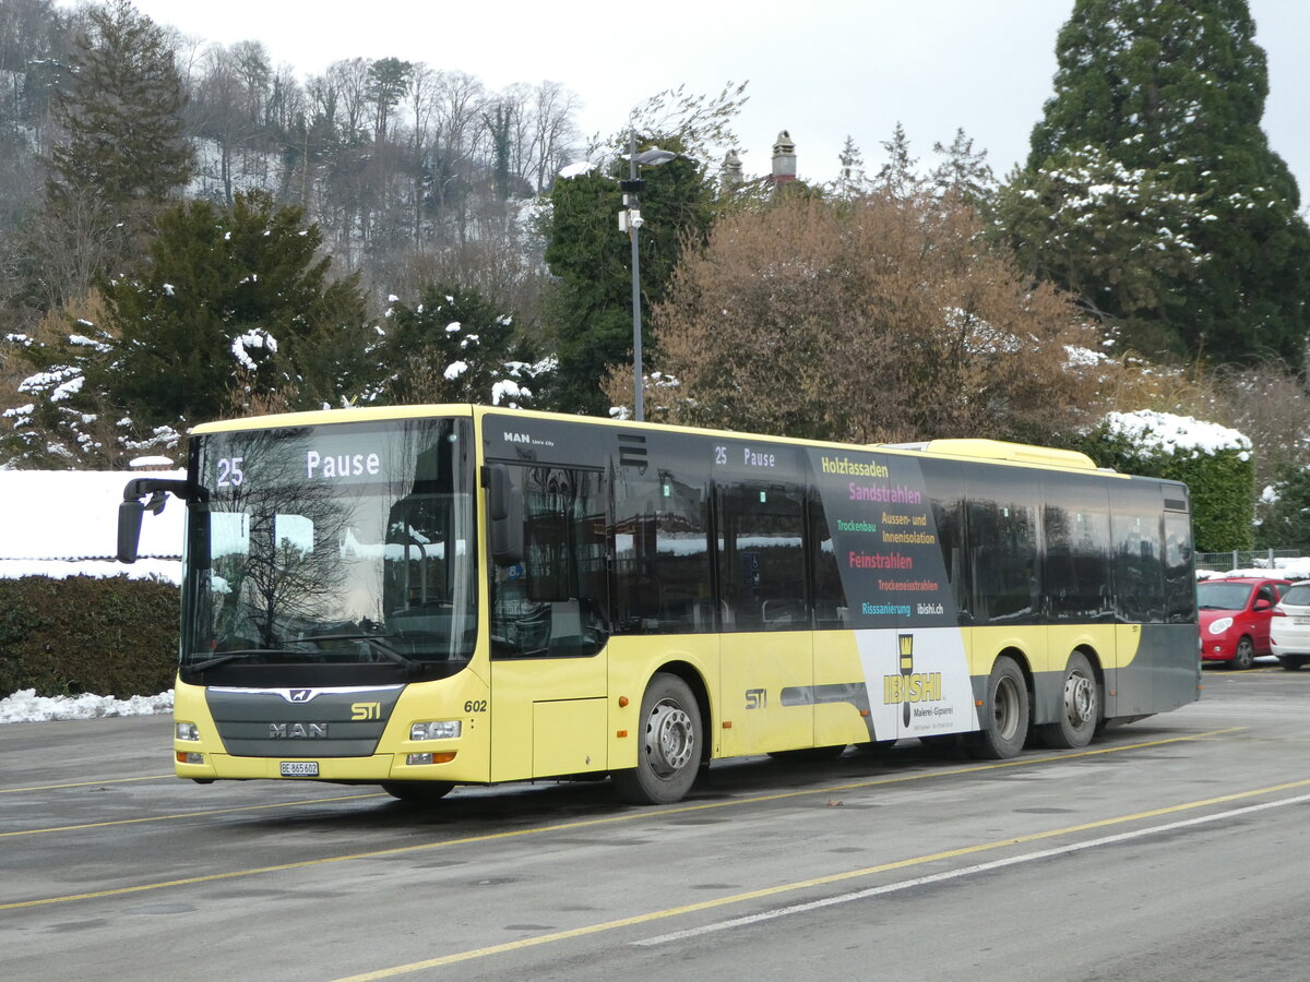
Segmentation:
[(477, 640), (464, 419), (199, 435), (182, 670), (457, 670)]

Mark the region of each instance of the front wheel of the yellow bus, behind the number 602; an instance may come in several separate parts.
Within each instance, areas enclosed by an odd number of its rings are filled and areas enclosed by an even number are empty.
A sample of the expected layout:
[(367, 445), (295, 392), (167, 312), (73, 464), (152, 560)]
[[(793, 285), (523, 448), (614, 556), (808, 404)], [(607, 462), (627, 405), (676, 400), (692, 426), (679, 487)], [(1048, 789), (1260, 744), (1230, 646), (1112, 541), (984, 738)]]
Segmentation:
[(637, 766), (614, 771), (618, 797), (634, 805), (681, 801), (701, 767), (701, 708), (677, 676), (658, 673), (642, 697)]

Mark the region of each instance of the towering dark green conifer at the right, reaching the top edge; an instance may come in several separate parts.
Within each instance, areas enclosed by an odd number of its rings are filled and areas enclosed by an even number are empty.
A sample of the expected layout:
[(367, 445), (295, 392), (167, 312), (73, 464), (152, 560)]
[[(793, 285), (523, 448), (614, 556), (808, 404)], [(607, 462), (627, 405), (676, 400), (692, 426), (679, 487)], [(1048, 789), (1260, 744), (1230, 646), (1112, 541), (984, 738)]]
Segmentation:
[[(1123, 323), (1131, 346), (1300, 363), (1310, 230), (1260, 130), (1254, 34), (1246, 0), (1077, 0), (1060, 31), (1055, 97), (1001, 220), (1036, 274)], [(1014, 227), (1024, 199), (1052, 216), (1045, 229)], [(1121, 289), (1151, 250), (1169, 253), (1154, 285)]]

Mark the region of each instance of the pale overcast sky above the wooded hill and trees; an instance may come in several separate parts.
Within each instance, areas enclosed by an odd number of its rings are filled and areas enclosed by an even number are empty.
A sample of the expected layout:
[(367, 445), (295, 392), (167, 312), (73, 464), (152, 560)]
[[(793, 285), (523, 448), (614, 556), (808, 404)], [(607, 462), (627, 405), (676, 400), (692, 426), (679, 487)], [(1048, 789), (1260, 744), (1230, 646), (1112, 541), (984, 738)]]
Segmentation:
[[(1073, 0), (812, 0), (616, 4), (570, 0), (135, 0), (206, 42), (259, 41), (301, 80), (348, 58), (468, 72), (489, 89), (554, 81), (575, 93), (584, 136), (622, 128), (633, 106), (685, 85), (745, 81), (736, 135), (748, 174), (768, 173), (781, 130), (798, 174), (837, 173), (846, 136), (876, 172), (900, 122), (931, 165), (962, 128), (997, 177), (1020, 162), (1052, 94), (1055, 42)], [(1264, 130), (1310, 192), (1310, 3), (1250, 0), (1269, 64)]]

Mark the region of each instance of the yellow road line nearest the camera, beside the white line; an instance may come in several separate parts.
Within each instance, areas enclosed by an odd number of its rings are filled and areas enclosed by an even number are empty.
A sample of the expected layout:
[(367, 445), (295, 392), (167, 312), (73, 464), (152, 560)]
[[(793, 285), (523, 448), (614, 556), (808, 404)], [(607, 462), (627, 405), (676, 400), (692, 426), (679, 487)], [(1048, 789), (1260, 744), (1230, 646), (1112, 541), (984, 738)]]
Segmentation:
[(394, 975), (406, 975), (411, 972), (422, 972), (423, 969), (435, 969), (435, 968), (441, 968), (443, 965), (455, 965), (461, 961), (485, 958), (491, 955), (504, 955), (506, 952), (521, 951), (524, 948), (534, 948), (542, 944), (566, 941), (574, 937), (586, 937), (587, 935), (601, 934), (604, 931), (614, 931), (621, 927), (648, 924), (655, 920), (664, 920), (667, 918), (679, 917), (681, 914), (694, 914), (701, 910), (713, 910), (714, 907), (723, 907), (731, 903), (744, 903), (747, 901), (762, 900), (766, 897), (778, 897), (787, 893), (795, 893), (798, 890), (807, 890), (815, 886), (828, 886), (831, 884), (845, 882), (848, 880), (855, 880), (866, 876), (874, 876), (876, 873), (886, 873), (895, 869), (905, 869), (913, 865), (922, 865), (924, 863), (935, 863), (943, 859), (956, 859), (959, 856), (975, 855), (979, 852), (986, 852), (996, 848), (1003, 848), (1006, 846), (1022, 846), (1030, 842), (1040, 842), (1043, 839), (1056, 838), (1058, 835), (1072, 835), (1079, 831), (1104, 829), (1111, 825), (1121, 825), (1124, 822), (1141, 821), (1142, 818), (1158, 818), (1159, 816), (1165, 814), (1175, 814), (1178, 812), (1186, 812), (1195, 808), (1205, 808), (1208, 805), (1217, 805), (1227, 801), (1239, 801), (1242, 799), (1255, 797), (1256, 795), (1269, 795), (1276, 791), (1289, 791), (1292, 788), (1303, 788), (1307, 786), (1310, 786), (1310, 778), (1305, 780), (1288, 782), (1286, 784), (1272, 784), (1267, 788), (1256, 788), (1254, 791), (1238, 791), (1231, 795), (1220, 795), (1218, 797), (1209, 797), (1203, 801), (1188, 801), (1180, 805), (1153, 808), (1146, 812), (1136, 812), (1133, 814), (1124, 814), (1116, 818), (1102, 818), (1100, 821), (1095, 822), (1085, 822), (1082, 825), (1069, 825), (1062, 829), (1049, 829), (1047, 831), (1036, 831), (1032, 833), (1031, 835), (1017, 835), (1010, 839), (997, 839), (994, 842), (982, 842), (976, 846), (963, 846), (960, 848), (951, 848), (951, 850), (945, 850), (942, 852), (933, 852), (926, 856), (899, 859), (892, 863), (882, 863), (879, 865), (865, 867), (863, 869), (850, 869), (844, 873), (816, 876), (811, 880), (796, 880), (794, 882), (778, 884), (777, 886), (765, 886), (758, 890), (747, 890), (744, 893), (735, 893), (730, 897), (718, 897), (715, 900), (700, 901), (698, 903), (686, 903), (680, 907), (652, 910), (647, 914), (635, 914), (629, 918), (607, 920), (600, 924), (587, 924), (584, 927), (575, 927), (567, 931), (555, 931), (549, 935), (538, 935), (536, 937), (523, 937), (517, 941), (506, 941), (504, 944), (491, 944), (486, 945), (485, 948), (473, 948), (466, 952), (457, 952), (456, 955), (444, 955), (436, 958), (427, 958), (424, 961), (414, 961), (407, 965), (396, 965), (389, 969), (367, 972), (360, 975), (347, 975), (345, 978), (337, 979), (337, 982), (373, 982), (373, 979), (393, 978)]

